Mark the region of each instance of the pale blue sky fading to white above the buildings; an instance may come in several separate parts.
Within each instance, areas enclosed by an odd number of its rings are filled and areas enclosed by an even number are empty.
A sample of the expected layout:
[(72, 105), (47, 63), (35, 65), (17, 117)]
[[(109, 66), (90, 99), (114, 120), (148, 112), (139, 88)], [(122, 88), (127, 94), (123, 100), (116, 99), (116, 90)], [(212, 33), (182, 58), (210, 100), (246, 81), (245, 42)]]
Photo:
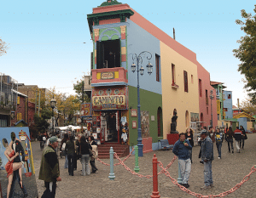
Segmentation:
[[(0, 37), (9, 44), (0, 72), (26, 85), (73, 94), (73, 83), (90, 72), (92, 41), (87, 14), (105, 0), (1, 0)], [(224, 82), (233, 105), (247, 92), (239, 59), (232, 50), (244, 36), (241, 9), (252, 13), (253, 0), (119, 0), (195, 52), (211, 81)], [(84, 43), (85, 42), (85, 43)]]

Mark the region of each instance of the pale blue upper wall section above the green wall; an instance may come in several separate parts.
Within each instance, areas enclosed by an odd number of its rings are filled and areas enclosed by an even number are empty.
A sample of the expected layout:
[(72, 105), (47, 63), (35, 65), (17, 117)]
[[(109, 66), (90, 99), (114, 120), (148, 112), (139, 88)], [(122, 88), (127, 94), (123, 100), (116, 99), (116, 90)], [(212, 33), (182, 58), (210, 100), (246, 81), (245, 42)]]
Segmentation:
[[(148, 75), (146, 67), (148, 59), (143, 57), (144, 75), (139, 76), (140, 88), (162, 94), (161, 78), (160, 82), (157, 82), (155, 72), (155, 54), (160, 55), (160, 41), (133, 21), (127, 19), (127, 22), (129, 23), (127, 26), (128, 85), (137, 87), (137, 71), (134, 73), (131, 71), (132, 54), (138, 55), (143, 51), (148, 51), (152, 54), (150, 63), (153, 65), (153, 72), (150, 76)], [(134, 63), (137, 64), (136, 62)]]

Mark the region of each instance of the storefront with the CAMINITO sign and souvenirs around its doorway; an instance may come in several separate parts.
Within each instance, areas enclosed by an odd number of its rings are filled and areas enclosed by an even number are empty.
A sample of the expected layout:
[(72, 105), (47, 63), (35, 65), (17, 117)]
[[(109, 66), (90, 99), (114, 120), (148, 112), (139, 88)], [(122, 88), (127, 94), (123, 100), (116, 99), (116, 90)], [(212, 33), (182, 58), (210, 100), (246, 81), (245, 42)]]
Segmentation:
[(125, 86), (92, 89), (92, 135), (101, 144), (128, 142), (128, 88)]

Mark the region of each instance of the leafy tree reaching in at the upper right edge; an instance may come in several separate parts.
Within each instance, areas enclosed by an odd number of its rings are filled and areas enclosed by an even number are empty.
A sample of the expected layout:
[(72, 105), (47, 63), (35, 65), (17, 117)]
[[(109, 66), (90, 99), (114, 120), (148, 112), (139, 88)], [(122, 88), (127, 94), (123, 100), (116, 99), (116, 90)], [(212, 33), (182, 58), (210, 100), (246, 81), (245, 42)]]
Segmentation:
[[(256, 13), (256, 5), (253, 11)], [(241, 64), (238, 65), (238, 71), (244, 74), (248, 95), (252, 98), (251, 102), (256, 104), (256, 15), (247, 14), (244, 9), (241, 10), (241, 17), (245, 22), (236, 20), (236, 24), (241, 25), (241, 31), (245, 32), (245, 36), (241, 37), (239, 48), (234, 49), (233, 53)]]

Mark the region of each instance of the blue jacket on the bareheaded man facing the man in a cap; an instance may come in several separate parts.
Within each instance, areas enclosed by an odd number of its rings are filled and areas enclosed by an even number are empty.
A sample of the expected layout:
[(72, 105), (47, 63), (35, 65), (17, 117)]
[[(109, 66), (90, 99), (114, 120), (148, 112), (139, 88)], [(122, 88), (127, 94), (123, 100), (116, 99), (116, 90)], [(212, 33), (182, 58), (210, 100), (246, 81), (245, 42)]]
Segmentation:
[[(189, 140), (185, 139), (185, 143), (189, 144)], [(179, 160), (188, 160), (189, 159), (189, 150), (192, 150), (192, 146), (185, 146), (182, 141), (177, 140), (174, 144), (172, 153), (178, 156)]]

